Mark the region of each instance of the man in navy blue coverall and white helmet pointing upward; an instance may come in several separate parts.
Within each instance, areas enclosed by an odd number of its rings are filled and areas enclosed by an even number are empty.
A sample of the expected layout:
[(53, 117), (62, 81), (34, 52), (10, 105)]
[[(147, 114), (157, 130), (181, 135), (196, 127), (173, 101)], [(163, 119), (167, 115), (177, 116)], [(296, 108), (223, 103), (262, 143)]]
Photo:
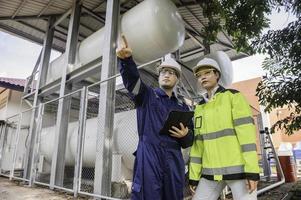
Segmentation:
[[(170, 133), (159, 134), (171, 110), (188, 111), (173, 88), (181, 75), (180, 65), (173, 59), (159, 67), (160, 88), (142, 82), (125, 37), (117, 49), (118, 67), (126, 89), (137, 108), (139, 143), (135, 152), (132, 185), (133, 200), (183, 200), (185, 164), (181, 148), (193, 143), (191, 127), (172, 127)], [(191, 123), (192, 124), (192, 123)]]

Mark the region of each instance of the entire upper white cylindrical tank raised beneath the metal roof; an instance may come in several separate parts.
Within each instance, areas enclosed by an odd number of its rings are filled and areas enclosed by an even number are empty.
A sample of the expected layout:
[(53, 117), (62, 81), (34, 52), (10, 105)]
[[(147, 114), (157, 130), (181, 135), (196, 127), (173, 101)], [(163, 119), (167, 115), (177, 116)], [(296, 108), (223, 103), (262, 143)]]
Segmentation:
[[(127, 38), (137, 63), (149, 62), (176, 51), (185, 40), (184, 23), (170, 0), (144, 0), (126, 12), (120, 24), (120, 32)], [(102, 28), (81, 42), (76, 67), (102, 56), (104, 32)], [(64, 62), (65, 54), (62, 54), (50, 64), (47, 83), (61, 76)]]

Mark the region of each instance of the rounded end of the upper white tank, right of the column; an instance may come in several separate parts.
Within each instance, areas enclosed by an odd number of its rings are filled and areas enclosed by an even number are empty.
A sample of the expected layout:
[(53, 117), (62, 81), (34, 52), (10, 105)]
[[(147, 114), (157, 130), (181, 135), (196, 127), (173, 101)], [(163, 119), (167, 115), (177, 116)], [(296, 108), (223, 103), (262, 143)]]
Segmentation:
[(174, 52), (185, 40), (184, 23), (169, 0), (146, 0), (138, 4), (123, 15), (121, 31), (138, 63)]

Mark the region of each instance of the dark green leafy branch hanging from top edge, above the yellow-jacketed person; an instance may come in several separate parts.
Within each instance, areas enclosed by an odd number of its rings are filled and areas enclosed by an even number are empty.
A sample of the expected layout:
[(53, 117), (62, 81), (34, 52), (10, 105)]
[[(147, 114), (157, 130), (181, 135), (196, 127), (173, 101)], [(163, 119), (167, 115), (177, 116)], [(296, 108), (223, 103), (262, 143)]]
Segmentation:
[(208, 19), (202, 35), (205, 48), (216, 42), (217, 33), (225, 31), (238, 51), (255, 53), (250, 40), (260, 36), (268, 27), (272, 7), (268, 0), (198, 0)]

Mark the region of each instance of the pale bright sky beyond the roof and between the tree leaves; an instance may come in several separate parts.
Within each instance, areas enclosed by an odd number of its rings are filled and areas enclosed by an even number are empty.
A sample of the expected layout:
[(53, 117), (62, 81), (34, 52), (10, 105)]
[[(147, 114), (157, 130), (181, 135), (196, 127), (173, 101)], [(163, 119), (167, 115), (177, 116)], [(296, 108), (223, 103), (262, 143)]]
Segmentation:
[[(295, 17), (290, 13), (273, 12), (269, 16), (271, 29), (281, 29)], [(267, 31), (267, 30), (265, 30)], [(32, 73), (41, 45), (29, 42), (0, 31), (0, 77), (27, 78)], [(51, 60), (60, 53), (52, 51)], [(252, 79), (264, 75), (261, 64), (265, 55), (256, 54), (247, 58), (233, 61), (233, 82)]]

